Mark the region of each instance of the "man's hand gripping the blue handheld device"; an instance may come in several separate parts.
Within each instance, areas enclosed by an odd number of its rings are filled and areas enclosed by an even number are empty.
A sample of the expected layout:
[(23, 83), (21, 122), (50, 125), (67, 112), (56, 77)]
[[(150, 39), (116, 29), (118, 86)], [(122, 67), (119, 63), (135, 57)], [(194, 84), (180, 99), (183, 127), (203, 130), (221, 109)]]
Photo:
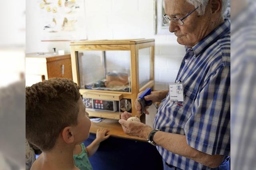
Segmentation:
[[(140, 105), (140, 102), (138, 102), (138, 99), (139, 99), (139, 96), (143, 92), (144, 91), (142, 91), (138, 94), (137, 99), (135, 101), (135, 109), (137, 110), (138, 114), (142, 114), (141, 113), (141, 105)], [(144, 98), (146, 101), (151, 100), (152, 103), (161, 102), (166, 97), (167, 94), (168, 94), (168, 91), (155, 91), (155, 92), (151, 92), (150, 95), (145, 96)], [(146, 108), (144, 109), (144, 113), (148, 115), (149, 113), (147, 111), (147, 108), (148, 108), (148, 106), (146, 106)]]

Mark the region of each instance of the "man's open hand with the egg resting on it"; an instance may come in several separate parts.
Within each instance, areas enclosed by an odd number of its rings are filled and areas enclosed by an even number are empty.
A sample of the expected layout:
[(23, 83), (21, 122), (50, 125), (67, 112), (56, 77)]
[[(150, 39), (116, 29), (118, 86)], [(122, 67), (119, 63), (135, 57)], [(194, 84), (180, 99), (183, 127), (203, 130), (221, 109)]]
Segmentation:
[(131, 114), (125, 111), (121, 114), (121, 119), (118, 121), (127, 135), (137, 136), (144, 139), (148, 138), (149, 133), (153, 130), (150, 126), (137, 121), (127, 121)]

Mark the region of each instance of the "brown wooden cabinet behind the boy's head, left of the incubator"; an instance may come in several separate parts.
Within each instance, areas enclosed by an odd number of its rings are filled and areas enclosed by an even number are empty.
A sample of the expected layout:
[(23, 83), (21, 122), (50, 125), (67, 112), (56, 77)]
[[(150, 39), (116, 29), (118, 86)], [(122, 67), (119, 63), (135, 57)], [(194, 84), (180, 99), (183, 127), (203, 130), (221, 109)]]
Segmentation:
[(72, 80), (70, 53), (64, 55), (27, 53), (26, 86), (50, 78), (68, 78)]

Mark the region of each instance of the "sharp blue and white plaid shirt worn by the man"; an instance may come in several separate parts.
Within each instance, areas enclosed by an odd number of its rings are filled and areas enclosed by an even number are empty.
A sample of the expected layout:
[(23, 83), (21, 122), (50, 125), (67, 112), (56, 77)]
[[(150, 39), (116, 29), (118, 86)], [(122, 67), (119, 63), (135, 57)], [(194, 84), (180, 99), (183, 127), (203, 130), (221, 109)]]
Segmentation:
[[(230, 155), (230, 21), (225, 20), (192, 48), (186, 48), (176, 82), (184, 102), (162, 100), (154, 128), (186, 135), (190, 147)], [(157, 146), (162, 158), (184, 170), (212, 168)]]

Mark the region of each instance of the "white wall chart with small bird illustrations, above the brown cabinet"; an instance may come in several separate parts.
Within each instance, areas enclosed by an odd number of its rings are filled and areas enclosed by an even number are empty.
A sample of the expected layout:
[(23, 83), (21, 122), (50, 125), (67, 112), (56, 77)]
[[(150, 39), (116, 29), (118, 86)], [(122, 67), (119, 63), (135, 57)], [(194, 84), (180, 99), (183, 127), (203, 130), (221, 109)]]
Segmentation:
[(42, 41), (86, 39), (84, 0), (37, 0)]

